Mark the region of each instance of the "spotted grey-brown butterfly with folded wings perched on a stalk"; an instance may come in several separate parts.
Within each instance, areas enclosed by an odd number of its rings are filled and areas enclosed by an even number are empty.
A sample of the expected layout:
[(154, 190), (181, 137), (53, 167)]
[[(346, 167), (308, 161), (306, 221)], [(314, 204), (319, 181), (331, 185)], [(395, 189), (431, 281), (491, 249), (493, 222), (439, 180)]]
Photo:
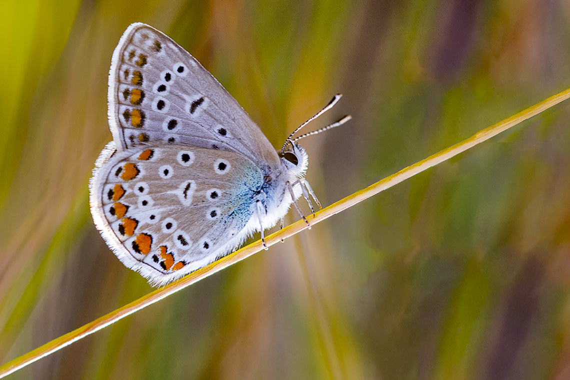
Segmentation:
[[(335, 96), (327, 107), (340, 98)], [(121, 262), (165, 285), (274, 227), (304, 197), (308, 156), (289, 136), (276, 151), (187, 51), (143, 23), (128, 27), (109, 70), (113, 141), (89, 182), (93, 221)], [(312, 199), (312, 201), (311, 201)], [(308, 222), (307, 222), (308, 224)]]

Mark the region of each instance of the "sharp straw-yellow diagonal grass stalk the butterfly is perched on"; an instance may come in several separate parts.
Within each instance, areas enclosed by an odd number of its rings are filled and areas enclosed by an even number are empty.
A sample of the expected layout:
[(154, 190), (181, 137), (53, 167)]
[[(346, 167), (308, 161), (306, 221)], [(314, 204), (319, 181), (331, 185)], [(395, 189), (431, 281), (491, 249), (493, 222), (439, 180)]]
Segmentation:
[[(519, 112), (518, 114), (511, 116), (508, 119), (504, 119), (502, 122), (485, 128), (484, 130), (471, 136), (469, 139), (463, 140), (461, 143), (443, 149), (442, 151), (435, 153), (434, 155), (431, 155), (416, 164), (410, 165), (409, 167), (406, 167), (401, 171), (389, 177), (386, 177), (385, 179), (378, 181), (377, 183), (374, 183), (361, 191), (353, 193), (352, 195), (345, 197), (335, 204), (322, 209), (321, 211), (317, 212), (315, 216), (310, 216), (307, 219), (311, 224), (319, 223), (320, 221), (325, 220), (328, 217), (331, 217), (349, 207), (352, 207), (353, 205), (356, 205), (357, 203), (360, 203), (361, 201), (372, 197), (373, 195), (376, 195), (385, 189), (388, 189), (410, 177), (413, 177), (414, 175), (425, 171), (430, 167), (442, 163), (443, 161), (450, 159), (453, 156), (457, 156), (459, 153), (465, 152), (467, 149), (474, 147), (475, 145), (482, 143), (495, 135), (500, 134), (500, 132), (508, 130), (508, 128), (516, 126), (526, 119), (532, 118), (532, 116), (540, 114), (540, 112), (543, 112), (548, 108), (555, 106), (556, 104), (568, 99), (569, 97), (570, 88), (560, 92), (559, 94), (551, 96), (543, 102), (535, 104), (534, 106), (529, 107), (526, 110)], [(304, 223), (304, 221), (299, 220), (287, 226), (286, 228), (268, 236), (266, 239), (267, 246), (274, 245), (277, 242), (282, 241), (287, 237), (291, 237), (307, 228), (307, 224)], [(257, 253), (262, 249), (263, 246), (261, 242), (256, 241), (250, 245), (245, 246), (242, 249), (235, 251), (234, 253), (229, 254), (226, 257), (221, 258), (218, 261), (213, 262), (210, 265), (205, 266), (205, 268), (197, 270), (194, 273), (190, 273), (180, 281), (173, 282), (172, 284), (166, 285), (164, 288), (157, 289), (154, 292), (139, 298), (139, 300), (133, 301), (130, 304), (123, 306), (123, 308), (108, 313), (107, 315), (87, 325), (75, 329), (74, 331), (63, 335), (62, 337), (56, 338), (51, 342), (48, 342), (43, 346), (40, 346), (37, 349), (32, 350), (29, 353), (22, 355), (21, 357), (16, 358), (13, 361), (10, 361), (1, 366), (0, 378), (3, 378), (15, 372), (40, 358), (50, 355), (51, 353), (54, 353), (55, 351), (58, 351), (63, 347), (86, 337), (89, 334), (95, 333), (96, 331), (101, 330), (115, 323), (116, 321), (119, 321), (122, 318), (145, 308), (146, 306), (152, 305), (154, 302), (160, 301), (162, 298), (168, 297), (170, 294), (178, 292), (178, 290), (182, 290), (186, 288), (186, 286), (192, 285), (194, 282), (202, 280), (202, 278), (205, 278), (211, 274), (214, 274), (215, 272), (218, 272), (219, 270), (227, 268), (227, 266), (235, 264), (236, 262), (241, 261), (254, 253)]]

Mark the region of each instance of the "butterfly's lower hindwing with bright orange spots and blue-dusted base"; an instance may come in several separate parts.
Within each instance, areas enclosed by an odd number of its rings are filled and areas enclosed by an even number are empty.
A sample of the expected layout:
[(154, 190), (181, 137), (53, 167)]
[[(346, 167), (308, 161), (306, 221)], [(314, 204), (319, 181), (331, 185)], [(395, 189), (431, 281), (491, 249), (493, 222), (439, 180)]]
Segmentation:
[(91, 211), (116, 256), (162, 285), (259, 229), (252, 199), (262, 184), (257, 165), (236, 152), (176, 144), (119, 152), (109, 143), (91, 180)]

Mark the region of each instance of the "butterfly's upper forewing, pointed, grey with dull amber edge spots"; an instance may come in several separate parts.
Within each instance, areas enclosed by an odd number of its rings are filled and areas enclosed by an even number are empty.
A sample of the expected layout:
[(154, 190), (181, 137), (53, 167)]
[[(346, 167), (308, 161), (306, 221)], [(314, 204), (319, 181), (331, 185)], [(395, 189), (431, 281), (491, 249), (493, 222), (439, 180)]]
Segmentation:
[(121, 37), (108, 99), (119, 150), (169, 142), (279, 165), (275, 149), (237, 101), (192, 55), (151, 26), (132, 24)]

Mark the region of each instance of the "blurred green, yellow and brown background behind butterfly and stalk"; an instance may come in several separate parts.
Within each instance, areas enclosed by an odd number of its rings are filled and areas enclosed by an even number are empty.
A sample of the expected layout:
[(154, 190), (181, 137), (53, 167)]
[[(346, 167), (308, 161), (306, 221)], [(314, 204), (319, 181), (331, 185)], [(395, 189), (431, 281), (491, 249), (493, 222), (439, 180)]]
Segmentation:
[[(570, 3), (0, 0), (0, 361), (152, 291), (93, 226), (107, 73), (170, 35), (324, 205), (570, 86)], [(10, 379), (570, 378), (570, 104)]]

